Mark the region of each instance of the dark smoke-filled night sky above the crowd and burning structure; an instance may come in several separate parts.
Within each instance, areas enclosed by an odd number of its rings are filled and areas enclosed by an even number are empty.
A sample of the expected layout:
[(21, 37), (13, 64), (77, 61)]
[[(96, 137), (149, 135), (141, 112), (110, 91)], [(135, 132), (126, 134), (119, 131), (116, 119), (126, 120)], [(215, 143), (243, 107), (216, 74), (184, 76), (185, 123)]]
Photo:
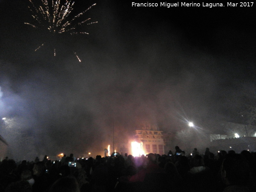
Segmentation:
[(77, 28), (88, 35), (52, 36), (24, 24), (29, 1), (0, 0), (0, 134), (13, 158), (103, 152), (113, 127), (125, 141), (142, 122), (174, 134), (186, 121), (243, 123), (256, 99), (256, 3), (76, 0), (71, 16), (94, 3), (84, 18), (98, 23)]

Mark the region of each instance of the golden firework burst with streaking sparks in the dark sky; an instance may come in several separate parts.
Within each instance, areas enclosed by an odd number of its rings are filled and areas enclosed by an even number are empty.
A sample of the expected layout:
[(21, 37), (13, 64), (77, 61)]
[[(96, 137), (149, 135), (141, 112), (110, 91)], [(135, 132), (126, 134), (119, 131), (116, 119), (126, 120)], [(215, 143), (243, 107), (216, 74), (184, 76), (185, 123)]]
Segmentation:
[[(61, 0), (52, 0), (49, 4), (48, 0), (41, 0), (40, 5), (36, 5), (32, 0), (28, 0), (31, 4), (29, 6), (30, 11), (32, 12), (32, 17), (34, 19), (34, 23), (25, 23), (30, 25), (33, 28), (38, 28), (43, 31), (48, 31), (52, 34), (52, 36), (56, 36), (57, 34), (88, 34), (87, 32), (78, 32), (76, 28), (78, 26), (83, 25), (91, 25), (97, 22), (90, 22), (91, 18), (87, 18), (85, 20), (81, 20), (85, 12), (91, 9), (94, 5), (91, 5), (88, 9), (83, 12), (80, 12), (76, 16), (72, 17), (71, 13), (73, 10), (74, 1), (65, 0), (64, 4), (61, 4)], [(51, 42), (52, 43), (52, 42)], [(45, 42), (38, 46), (35, 51), (44, 46)], [(56, 49), (53, 48), (54, 56), (56, 55)], [(79, 62), (81, 60), (77, 56), (76, 52), (73, 51), (76, 58)]]

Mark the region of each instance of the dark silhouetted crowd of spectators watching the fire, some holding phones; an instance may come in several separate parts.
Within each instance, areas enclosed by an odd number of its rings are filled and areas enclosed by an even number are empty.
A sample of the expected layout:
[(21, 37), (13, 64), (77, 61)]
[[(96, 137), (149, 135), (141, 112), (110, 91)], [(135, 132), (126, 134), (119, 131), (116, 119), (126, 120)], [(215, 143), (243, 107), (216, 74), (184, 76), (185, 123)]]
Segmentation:
[(3, 192), (253, 192), (256, 191), (256, 153), (195, 148), (186, 156), (178, 146), (167, 155), (149, 153), (76, 159), (0, 163)]

